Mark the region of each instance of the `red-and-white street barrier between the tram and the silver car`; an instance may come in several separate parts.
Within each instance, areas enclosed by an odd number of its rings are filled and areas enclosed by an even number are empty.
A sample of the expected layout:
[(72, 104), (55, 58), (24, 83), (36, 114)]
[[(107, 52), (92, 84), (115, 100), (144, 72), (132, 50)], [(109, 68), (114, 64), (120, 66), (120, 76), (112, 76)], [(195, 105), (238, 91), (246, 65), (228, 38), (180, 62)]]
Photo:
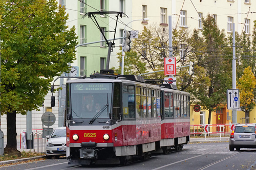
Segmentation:
[(206, 135), (215, 136), (218, 135), (223, 138), (226, 135), (229, 135), (234, 129), (236, 124), (199, 124), (199, 125), (190, 125), (190, 136), (202, 136), (206, 140)]

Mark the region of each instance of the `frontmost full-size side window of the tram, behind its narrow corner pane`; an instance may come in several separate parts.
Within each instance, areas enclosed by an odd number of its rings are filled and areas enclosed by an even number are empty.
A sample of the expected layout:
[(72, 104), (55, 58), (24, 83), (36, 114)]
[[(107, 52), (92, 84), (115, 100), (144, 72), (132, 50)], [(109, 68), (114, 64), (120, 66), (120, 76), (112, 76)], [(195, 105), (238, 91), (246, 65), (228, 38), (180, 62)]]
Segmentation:
[[(127, 89), (127, 91), (126, 91), (126, 89)], [(131, 92), (129, 92), (129, 90)], [(123, 86), (123, 100), (122, 101), (123, 101), (123, 118), (135, 118), (134, 86)]]

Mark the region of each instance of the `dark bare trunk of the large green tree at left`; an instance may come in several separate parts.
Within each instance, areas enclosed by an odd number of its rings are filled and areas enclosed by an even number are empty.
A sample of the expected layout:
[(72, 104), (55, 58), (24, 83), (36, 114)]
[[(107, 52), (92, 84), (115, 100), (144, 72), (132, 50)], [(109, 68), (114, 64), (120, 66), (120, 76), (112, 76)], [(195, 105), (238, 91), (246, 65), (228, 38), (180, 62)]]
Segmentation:
[(16, 132), (16, 110), (8, 112), (7, 117), (7, 144), (6, 149), (17, 150), (17, 132)]

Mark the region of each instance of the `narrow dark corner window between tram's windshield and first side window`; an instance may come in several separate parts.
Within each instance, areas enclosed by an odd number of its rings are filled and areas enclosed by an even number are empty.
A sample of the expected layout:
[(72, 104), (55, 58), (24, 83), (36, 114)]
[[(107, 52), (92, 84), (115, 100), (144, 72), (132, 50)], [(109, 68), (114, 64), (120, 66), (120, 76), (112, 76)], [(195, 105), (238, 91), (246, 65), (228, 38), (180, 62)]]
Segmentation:
[(113, 118), (118, 118), (120, 113), (120, 84), (114, 84), (114, 98), (113, 98)]

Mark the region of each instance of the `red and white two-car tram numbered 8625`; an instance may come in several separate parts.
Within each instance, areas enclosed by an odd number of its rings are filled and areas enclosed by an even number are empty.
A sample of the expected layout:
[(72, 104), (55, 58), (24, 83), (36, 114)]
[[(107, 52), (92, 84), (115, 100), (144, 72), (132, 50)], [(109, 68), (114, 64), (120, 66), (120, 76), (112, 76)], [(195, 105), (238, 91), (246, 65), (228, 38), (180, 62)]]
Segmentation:
[(189, 93), (165, 86), (110, 70), (67, 81), (69, 164), (125, 164), (182, 149), (190, 134)]

